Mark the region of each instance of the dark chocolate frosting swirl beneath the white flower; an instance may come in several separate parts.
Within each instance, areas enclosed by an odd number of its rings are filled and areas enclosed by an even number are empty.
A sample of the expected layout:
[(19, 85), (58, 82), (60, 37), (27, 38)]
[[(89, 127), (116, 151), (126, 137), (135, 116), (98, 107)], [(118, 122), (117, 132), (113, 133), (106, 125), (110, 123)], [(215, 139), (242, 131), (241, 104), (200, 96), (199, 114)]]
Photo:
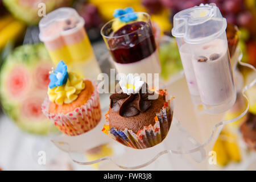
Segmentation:
[[(142, 91), (146, 91), (143, 93)], [(153, 95), (154, 92), (148, 90), (148, 85), (144, 83), (139, 93), (126, 94), (123, 93), (119, 84), (115, 88), (115, 93), (110, 96), (110, 108), (118, 112), (123, 117), (132, 117), (144, 112), (151, 106), (151, 101), (148, 100), (148, 96)]]

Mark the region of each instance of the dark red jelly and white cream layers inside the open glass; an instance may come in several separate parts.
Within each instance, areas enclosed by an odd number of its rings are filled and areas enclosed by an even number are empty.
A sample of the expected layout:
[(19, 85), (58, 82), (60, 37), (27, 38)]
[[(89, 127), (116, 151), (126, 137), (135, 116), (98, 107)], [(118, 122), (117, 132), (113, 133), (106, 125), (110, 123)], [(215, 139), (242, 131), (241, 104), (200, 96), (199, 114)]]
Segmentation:
[(113, 32), (112, 37), (108, 46), (118, 73), (161, 72), (154, 34), (146, 22), (125, 24)]

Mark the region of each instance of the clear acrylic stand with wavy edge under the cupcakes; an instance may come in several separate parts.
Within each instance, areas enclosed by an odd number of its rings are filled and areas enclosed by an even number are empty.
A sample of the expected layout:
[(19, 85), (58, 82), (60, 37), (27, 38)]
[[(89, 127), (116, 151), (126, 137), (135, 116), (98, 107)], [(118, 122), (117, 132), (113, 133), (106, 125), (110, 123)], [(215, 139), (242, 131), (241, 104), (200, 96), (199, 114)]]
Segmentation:
[[(101, 67), (105, 69), (113, 68), (108, 57), (109, 55), (106, 54), (100, 61)], [(241, 74), (236, 78), (237, 72), (234, 72), (234, 80), (238, 80), (236, 87), (242, 88), (237, 91), (242, 94), (246, 101), (246, 108), (232, 119), (225, 121), (225, 113), (210, 115), (204, 112), (203, 106), (193, 104), (184, 74), (180, 72), (171, 77), (170, 81), (162, 82), (160, 86), (160, 88), (168, 89), (168, 94), (175, 97), (174, 117), (171, 128), (167, 137), (160, 144), (138, 150), (123, 146), (103, 133), (101, 130), (106, 123), (105, 114), (109, 109), (109, 94), (101, 95), (102, 119), (93, 130), (75, 137), (69, 137), (64, 134), (57, 135), (52, 137), (52, 142), (60, 150), (68, 152), (73, 162), (82, 165), (109, 160), (122, 169), (138, 169), (148, 166), (158, 159), (159, 156), (168, 153), (185, 154), (190, 156), (193, 162), (203, 162), (208, 152), (212, 149), (214, 140), (220, 134), (222, 127), (226, 123), (242, 118), (249, 109), (249, 101), (245, 92), (255, 84), (256, 72), (255, 68), (251, 65), (241, 63), (241, 57), (241, 51), (237, 48), (236, 54), (232, 58), (233, 69), (236, 69), (237, 64), (239, 64), (240, 67), (248, 69), (250, 72), (250, 76), (242, 78), (243, 81), (241, 81)], [(108, 144), (112, 148), (111, 155), (104, 156), (103, 154), (102, 156), (104, 157), (98, 157), (95, 160), (85, 158), (86, 151), (102, 144)]]

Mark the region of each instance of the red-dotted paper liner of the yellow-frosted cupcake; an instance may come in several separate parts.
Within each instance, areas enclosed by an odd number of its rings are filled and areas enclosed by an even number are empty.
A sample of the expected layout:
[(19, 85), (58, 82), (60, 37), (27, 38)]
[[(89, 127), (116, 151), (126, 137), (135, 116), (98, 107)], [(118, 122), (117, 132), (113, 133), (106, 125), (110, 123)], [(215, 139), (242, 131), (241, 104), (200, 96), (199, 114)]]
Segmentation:
[(100, 95), (97, 84), (93, 82), (94, 92), (90, 99), (82, 106), (67, 114), (49, 113), (49, 98), (46, 97), (42, 104), (42, 111), (54, 125), (64, 134), (69, 136), (80, 135), (92, 130), (101, 120)]

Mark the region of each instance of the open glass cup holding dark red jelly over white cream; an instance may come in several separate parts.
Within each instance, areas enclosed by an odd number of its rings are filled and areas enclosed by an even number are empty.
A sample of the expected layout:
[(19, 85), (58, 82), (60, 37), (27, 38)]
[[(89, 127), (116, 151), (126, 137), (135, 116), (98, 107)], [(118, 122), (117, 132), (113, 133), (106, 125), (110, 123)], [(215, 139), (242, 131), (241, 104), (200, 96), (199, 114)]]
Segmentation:
[[(130, 15), (137, 16), (137, 19), (127, 23), (121, 21)], [(118, 73), (150, 73), (154, 76), (154, 73), (161, 72), (150, 15), (147, 13), (129, 13), (114, 18), (102, 27), (101, 35)]]

